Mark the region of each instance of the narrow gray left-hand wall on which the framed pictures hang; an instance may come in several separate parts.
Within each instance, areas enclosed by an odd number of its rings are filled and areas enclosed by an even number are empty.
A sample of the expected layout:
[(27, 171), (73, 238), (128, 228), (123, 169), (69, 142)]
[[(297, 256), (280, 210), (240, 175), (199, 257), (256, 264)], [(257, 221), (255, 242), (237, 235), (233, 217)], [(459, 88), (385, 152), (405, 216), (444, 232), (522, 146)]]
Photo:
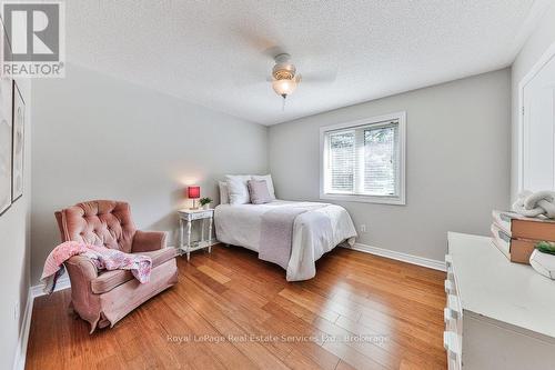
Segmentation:
[(18, 80), (26, 101), (26, 142), (23, 197), (0, 216), (0, 369), (11, 369), (18, 344), (29, 293), (29, 264), (31, 260), (31, 83)]

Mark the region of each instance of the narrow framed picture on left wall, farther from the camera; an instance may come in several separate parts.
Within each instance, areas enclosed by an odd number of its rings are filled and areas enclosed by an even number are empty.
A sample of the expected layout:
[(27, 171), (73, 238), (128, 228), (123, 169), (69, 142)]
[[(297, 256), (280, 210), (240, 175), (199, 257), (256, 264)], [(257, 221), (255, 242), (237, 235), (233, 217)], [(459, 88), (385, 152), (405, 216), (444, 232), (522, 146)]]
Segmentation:
[(13, 81), (12, 202), (23, 196), (24, 129), (26, 102), (18, 84)]

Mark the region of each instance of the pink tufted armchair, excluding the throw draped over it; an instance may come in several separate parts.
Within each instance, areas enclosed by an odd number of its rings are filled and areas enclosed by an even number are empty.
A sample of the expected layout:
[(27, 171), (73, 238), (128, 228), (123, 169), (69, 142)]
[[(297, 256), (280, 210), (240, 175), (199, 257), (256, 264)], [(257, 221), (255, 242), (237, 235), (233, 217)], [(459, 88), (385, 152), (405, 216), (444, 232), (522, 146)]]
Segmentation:
[(94, 200), (54, 213), (62, 241), (84, 241), (152, 258), (150, 282), (141, 284), (130, 271), (98, 271), (83, 256), (65, 262), (71, 304), (94, 329), (115, 322), (159, 292), (178, 282), (175, 249), (165, 248), (165, 233), (137, 230), (128, 203)]

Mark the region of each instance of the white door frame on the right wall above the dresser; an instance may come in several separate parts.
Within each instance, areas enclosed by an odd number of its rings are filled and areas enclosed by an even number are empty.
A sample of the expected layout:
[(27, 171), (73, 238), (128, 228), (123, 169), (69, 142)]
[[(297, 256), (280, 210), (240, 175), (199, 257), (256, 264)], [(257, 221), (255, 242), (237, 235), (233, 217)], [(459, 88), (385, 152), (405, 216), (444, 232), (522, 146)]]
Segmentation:
[(536, 63), (531, 68), (531, 70), (523, 77), (521, 82), (518, 82), (518, 119), (517, 119), (517, 161), (518, 161), (518, 186), (517, 193), (522, 192), (524, 189), (524, 88), (528, 84), (534, 77), (552, 59), (555, 58), (555, 42), (547, 48), (547, 50), (542, 54), (542, 57), (536, 61)]

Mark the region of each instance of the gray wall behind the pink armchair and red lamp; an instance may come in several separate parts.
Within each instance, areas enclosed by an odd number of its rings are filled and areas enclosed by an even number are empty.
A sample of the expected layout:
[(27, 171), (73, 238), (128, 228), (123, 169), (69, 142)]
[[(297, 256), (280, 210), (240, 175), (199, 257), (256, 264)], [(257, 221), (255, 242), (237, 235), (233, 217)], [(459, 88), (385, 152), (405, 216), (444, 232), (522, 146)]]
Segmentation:
[(69, 66), (33, 86), (32, 281), (59, 242), (53, 212), (129, 201), (141, 229), (174, 231), (186, 184), (218, 200), (224, 173), (265, 173), (268, 129)]

